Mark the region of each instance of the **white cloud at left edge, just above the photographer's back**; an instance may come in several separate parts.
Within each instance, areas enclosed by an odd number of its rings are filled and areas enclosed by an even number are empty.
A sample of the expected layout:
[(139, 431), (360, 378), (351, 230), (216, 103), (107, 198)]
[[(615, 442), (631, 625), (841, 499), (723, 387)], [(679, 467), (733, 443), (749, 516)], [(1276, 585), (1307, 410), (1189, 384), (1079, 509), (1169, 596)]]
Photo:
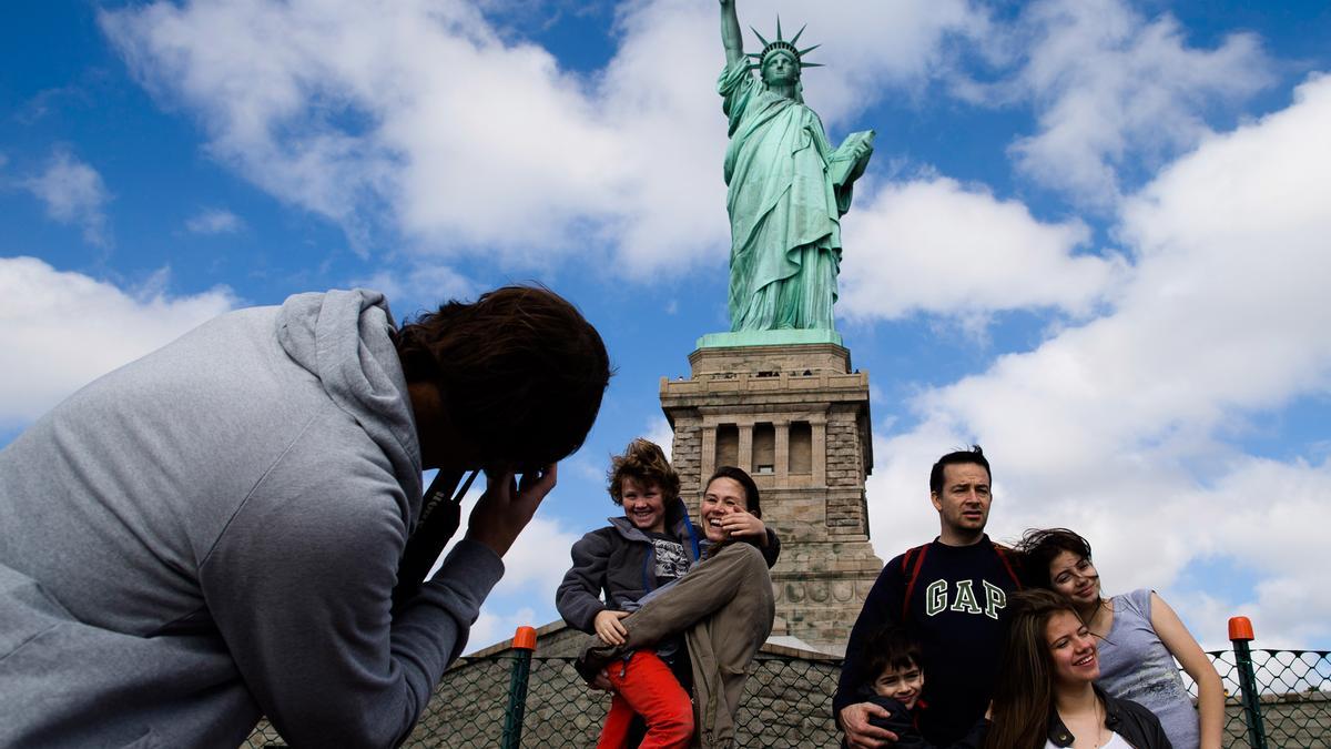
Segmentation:
[[(150, 284), (160, 284), (156, 277)], [(23, 424), (112, 369), (226, 312), (226, 289), (126, 293), (35, 257), (0, 257), (0, 422)]]

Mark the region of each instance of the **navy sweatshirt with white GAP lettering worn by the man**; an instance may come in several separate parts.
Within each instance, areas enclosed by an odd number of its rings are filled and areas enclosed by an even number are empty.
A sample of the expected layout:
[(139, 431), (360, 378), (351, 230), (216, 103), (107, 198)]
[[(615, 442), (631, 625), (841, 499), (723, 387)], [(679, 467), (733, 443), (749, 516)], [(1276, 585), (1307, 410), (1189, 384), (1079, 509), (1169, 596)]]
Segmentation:
[[(912, 556), (910, 566), (902, 569), (904, 557), (882, 568), (851, 630), (841, 681), (832, 700), (837, 716), (858, 700), (864, 644), (885, 625), (901, 620), (914, 568)], [(920, 665), (928, 674), (922, 698), (929, 709), (921, 714), (920, 730), (930, 744), (961, 740), (989, 704), (1002, 654), (1008, 593), (1018, 589), (1008, 564), (1016, 564), (1012, 553), (1000, 557), (989, 536), (970, 546), (948, 546), (937, 540), (926, 545), (905, 625), (922, 649)]]

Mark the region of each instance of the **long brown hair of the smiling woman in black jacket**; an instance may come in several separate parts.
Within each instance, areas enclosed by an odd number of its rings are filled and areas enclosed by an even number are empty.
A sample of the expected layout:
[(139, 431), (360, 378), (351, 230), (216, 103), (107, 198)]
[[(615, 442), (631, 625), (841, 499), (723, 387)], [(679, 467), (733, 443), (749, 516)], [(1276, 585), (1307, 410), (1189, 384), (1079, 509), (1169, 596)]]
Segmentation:
[(1078, 621), (1081, 614), (1053, 590), (1013, 593), (1010, 602), (1008, 641), (984, 749), (1042, 749), (1054, 712), (1054, 666), (1045, 633), (1054, 614), (1069, 612)]

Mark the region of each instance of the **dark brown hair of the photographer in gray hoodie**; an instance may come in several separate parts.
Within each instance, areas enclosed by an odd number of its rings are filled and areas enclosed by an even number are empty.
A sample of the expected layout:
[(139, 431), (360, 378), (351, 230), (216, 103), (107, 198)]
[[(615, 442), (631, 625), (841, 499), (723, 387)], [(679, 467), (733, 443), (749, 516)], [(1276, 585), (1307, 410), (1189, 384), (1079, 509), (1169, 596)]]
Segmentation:
[(486, 462), (539, 466), (576, 450), (600, 410), (610, 357), (574, 305), (543, 287), (449, 301), (397, 335), (407, 382), (434, 382)]

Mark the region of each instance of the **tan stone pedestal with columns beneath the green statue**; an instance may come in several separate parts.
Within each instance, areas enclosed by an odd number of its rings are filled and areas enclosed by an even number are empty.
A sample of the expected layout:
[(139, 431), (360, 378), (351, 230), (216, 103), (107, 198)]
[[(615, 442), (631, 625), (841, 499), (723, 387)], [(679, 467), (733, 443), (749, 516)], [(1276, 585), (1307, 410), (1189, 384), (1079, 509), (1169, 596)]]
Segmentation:
[(662, 378), (681, 496), (697, 508), (717, 465), (748, 470), (781, 537), (772, 637), (843, 653), (882, 561), (869, 545), (869, 376), (832, 343), (699, 348)]

